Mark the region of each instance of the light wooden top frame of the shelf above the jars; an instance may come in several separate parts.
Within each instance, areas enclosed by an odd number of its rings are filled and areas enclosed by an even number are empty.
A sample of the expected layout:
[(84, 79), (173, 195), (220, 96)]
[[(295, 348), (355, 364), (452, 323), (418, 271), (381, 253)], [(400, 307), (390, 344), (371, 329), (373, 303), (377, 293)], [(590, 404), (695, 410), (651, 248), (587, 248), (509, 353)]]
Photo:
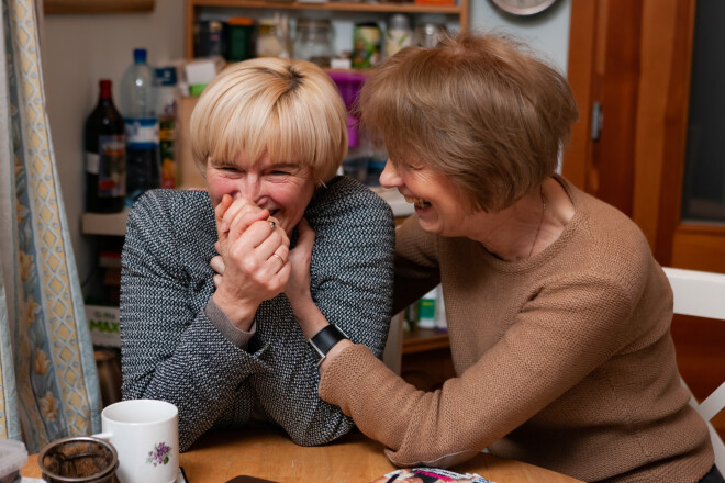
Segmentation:
[(454, 5), (445, 4), (416, 4), (416, 3), (368, 3), (368, 2), (343, 2), (328, 1), (324, 3), (311, 3), (302, 1), (274, 1), (274, 0), (187, 0), (187, 25), (186, 25), (186, 55), (193, 57), (193, 25), (204, 10), (214, 8), (233, 9), (265, 9), (265, 10), (310, 10), (328, 12), (356, 13), (405, 13), (419, 15), (425, 13), (439, 13), (457, 18), (461, 31), (468, 29), (468, 2), (469, 0), (457, 0)]

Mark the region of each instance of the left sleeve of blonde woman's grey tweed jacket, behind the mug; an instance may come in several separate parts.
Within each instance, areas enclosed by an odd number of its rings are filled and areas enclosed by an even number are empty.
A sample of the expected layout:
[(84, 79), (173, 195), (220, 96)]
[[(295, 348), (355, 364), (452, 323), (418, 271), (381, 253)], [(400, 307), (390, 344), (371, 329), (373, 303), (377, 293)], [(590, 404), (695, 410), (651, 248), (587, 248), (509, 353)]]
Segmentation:
[(174, 403), (186, 450), (222, 415), (249, 418), (253, 395), (238, 387), (268, 367), (259, 359), (265, 348), (249, 353), (237, 347), (204, 307), (189, 303), (198, 288), (189, 287), (176, 235), (180, 228), (165, 200), (166, 194), (149, 192), (129, 215), (121, 280), (122, 393), (126, 400)]

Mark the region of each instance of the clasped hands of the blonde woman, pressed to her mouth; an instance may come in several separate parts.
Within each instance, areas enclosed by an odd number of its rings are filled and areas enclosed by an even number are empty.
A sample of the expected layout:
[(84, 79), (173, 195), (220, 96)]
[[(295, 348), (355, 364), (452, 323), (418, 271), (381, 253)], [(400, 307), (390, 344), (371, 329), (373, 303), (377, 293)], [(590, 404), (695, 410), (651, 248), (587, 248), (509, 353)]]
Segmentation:
[(223, 277), (215, 276), (213, 299), (232, 324), (248, 330), (259, 304), (287, 285), (289, 238), (267, 210), (241, 198), (224, 195), (215, 217), (221, 259), (212, 259), (212, 268)]

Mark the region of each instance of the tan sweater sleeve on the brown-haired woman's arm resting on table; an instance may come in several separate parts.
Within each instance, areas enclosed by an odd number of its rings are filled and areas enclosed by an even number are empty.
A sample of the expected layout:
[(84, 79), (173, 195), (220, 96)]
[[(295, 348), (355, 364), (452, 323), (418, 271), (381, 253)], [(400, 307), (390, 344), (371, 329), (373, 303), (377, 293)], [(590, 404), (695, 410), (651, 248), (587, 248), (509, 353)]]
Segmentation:
[(353, 346), (326, 368), (320, 395), (384, 443), (394, 464), (450, 465), (514, 430), (621, 349), (631, 307), (615, 281), (553, 283), (438, 391), (415, 390)]

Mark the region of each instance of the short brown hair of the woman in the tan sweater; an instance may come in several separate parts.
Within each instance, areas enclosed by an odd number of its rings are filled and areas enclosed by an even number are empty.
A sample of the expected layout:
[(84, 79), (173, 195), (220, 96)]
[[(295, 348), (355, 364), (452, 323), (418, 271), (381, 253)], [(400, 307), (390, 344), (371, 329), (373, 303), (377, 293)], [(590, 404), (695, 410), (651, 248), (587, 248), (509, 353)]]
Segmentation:
[(503, 210), (553, 175), (578, 117), (556, 69), (514, 40), (476, 33), (390, 57), (359, 110), (394, 166), (446, 175), (469, 212)]

